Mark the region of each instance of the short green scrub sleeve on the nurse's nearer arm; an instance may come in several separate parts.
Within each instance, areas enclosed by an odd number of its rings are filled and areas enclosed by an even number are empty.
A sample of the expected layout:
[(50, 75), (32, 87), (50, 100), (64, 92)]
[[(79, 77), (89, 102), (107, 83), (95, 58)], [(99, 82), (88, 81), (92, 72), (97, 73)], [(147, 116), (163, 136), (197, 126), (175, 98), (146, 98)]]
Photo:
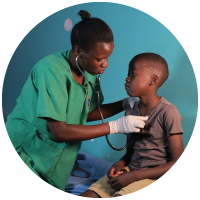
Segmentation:
[(66, 121), (67, 81), (58, 69), (52, 66), (38, 68), (34, 84), (38, 90), (37, 117)]

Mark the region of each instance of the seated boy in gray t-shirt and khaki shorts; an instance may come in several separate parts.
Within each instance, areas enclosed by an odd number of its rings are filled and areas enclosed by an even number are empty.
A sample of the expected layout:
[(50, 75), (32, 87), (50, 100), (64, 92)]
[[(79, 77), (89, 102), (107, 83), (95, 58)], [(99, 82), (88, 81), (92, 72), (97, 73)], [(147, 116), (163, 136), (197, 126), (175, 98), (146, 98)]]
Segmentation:
[(149, 115), (149, 119), (140, 133), (128, 135), (126, 154), (107, 175), (79, 196), (125, 196), (153, 184), (176, 164), (184, 152), (182, 118), (173, 104), (157, 95), (168, 75), (167, 62), (158, 54), (142, 53), (131, 60), (125, 89), (140, 101), (125, 115)]

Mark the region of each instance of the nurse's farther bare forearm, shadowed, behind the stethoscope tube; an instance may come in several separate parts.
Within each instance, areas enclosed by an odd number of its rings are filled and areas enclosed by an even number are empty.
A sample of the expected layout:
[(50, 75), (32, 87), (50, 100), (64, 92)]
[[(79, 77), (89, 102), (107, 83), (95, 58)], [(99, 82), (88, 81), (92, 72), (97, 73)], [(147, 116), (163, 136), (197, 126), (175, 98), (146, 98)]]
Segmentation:
[[(123, 100), (117, 101), (114, 103), (110, 103), (110, 104), (101, 105), (100, 106), (101, 113), (102, 113), (104, 119), (122, 112), (124, 110), (124, 108), (122, 106), (122, 102), (123, 102)], [(88, 113), (87, 122), (96, 121), (96, 120), (101, 120), (101, 116), (99, 114), (98, 107), (96, 107), (94, 110), (92, 110), (91, 112)]]

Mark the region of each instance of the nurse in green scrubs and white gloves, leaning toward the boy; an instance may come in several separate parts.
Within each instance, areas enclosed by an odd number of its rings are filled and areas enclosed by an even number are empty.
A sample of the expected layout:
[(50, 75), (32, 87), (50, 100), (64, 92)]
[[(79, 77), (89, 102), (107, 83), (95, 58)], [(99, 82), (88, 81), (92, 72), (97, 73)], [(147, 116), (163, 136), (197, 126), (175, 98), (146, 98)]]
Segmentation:
[[(64, 191), (81, 141), (114, 133), (139, 132), (144, 117), (126, 116), (93, 126), (100, 120), (97, 95), (76, 67), (95, 84), (103, 74), (114, 48), (109, 26), (87, 11), (78, 13), (82, 21), (71, 33), (72, 50), (48, 55), (31, 70), (16, 107), (5, 124), (9, 139), (24, 164), (40, 179)], [(112, 83), (112, 82), (111, 82)], [(94, 86), (98, 90), (98, 85)], [(101, 104), (103, 94), (100, 93)], [(104, 118), (125, 108), (127, 99), (101, 105)]]

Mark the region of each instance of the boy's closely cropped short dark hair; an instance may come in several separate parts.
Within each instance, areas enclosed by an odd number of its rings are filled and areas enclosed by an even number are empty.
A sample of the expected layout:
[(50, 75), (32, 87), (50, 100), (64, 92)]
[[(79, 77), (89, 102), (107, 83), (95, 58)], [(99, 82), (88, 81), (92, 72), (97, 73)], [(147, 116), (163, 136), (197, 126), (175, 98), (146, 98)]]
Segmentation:
[(169, 76), (169, 70), (168, 70), (168, 64), (166, 62), (166, 60), (156, 54), (156, 53), (141, 53), (136, 55), (130, 62), (130, 64), (134, 64), (136, 60), (139, 59), (144, 59), (146, 60), (149, 65), (149, 71), (152, 74), (158, 75), (160, 82), (158, 87), (160, 87), (168, 78)]

